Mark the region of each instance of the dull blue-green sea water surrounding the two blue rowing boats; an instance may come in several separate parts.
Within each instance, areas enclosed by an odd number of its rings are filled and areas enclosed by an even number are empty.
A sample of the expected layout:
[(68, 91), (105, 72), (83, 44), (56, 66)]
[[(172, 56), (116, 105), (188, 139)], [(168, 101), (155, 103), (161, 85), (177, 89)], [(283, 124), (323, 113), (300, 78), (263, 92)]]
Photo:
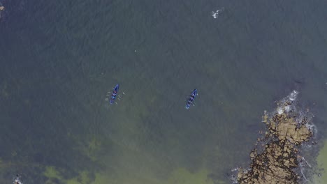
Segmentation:
[(2, 3), (3, 182), (228, 183), (293, 89), (324, 138), (324, 1)]

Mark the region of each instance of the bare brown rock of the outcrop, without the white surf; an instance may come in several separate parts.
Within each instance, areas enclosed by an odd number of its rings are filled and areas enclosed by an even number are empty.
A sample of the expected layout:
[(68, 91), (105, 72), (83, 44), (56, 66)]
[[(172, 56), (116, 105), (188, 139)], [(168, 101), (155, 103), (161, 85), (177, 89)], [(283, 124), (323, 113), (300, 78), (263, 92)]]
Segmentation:
[[(285, 102), (285, 107), (291, 102)], [(285, 107), (279, 107), (286, 109)], [(263, 123), (266, 123), (268, 131), (265, 139), (270, 139), (263, 145), (262, 153), (254, 149), (250, 153), (252, 160), (249, 169), (238, 169), (238, 183), (261, 184), (261, 183), (285, 183), (298, 184), (299, 176), (294, 172), (298, 167), (296, 145), (303, 144), (312, 137), (312, 132), (305, 123), (296, 122), (296, 115), (284, 111), (282, 114), (275, 114), (273, 117), (263, 116)], [(305, 119), (305, 118), (304, 118)], [(258, 139), (262, 141), (265, 139)]]

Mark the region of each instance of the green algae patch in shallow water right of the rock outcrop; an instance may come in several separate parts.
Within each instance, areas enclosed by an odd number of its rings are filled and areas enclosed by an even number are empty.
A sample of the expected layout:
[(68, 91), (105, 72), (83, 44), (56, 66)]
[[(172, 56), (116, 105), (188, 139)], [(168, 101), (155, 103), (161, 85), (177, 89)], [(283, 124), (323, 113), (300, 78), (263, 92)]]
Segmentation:
[(324, 142), (324, 148), (319, 151), (317, 157), (318, 169), (321, 169), (321, 177), (314, 175), (314, 184), (327, 183), (327, 140)]

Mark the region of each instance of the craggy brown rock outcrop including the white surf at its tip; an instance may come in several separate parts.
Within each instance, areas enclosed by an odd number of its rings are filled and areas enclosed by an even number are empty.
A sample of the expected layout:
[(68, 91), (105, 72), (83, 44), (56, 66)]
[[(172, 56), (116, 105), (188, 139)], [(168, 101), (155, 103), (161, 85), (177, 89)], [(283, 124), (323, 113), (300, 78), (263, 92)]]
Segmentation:
[(250, 167), (233, 170), (237, 172), (233, 178), (235, 183), (298, 184), (307, 180), (299, 169), (300, 163), (306, 162), (299, 149), (312, 137), (314, 126), (309, 113), (296, 109), (297, 95), (298, 92), (293, 91), (277, 103), (275, 112), (265, 112), (263, 123), (267, 131), (261, 132), (263, 137), (250, 153)]

